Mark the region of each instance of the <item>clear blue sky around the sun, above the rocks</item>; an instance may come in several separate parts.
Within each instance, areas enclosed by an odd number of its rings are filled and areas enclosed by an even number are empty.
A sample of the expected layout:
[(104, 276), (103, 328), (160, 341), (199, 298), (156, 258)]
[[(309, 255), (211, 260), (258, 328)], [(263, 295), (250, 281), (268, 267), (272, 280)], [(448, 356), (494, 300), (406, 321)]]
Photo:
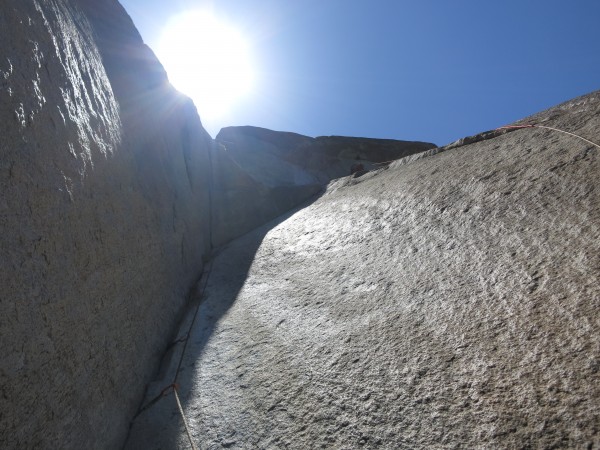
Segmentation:
[(600, 89), (598, 0), (120, 1), (152, 48), (170, 16), (207, 6), (247, 37), (255, 92), (218, 123), (201, 113), (213, 136), (442, 145)]

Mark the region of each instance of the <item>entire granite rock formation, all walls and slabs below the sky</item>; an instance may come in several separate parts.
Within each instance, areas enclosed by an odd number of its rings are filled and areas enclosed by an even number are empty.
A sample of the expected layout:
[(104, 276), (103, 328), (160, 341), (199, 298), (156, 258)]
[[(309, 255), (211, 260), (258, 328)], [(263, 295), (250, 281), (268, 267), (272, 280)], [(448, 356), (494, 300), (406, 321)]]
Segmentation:
[[(116, 0), (5, 0), (0, 44), (2, 448), (119, 448), (190, 298), (146, 402), (183, 354), (202, 448), (600, 448), (596, 147), (214, 142)], [(527, 120), (598, 142), (600, 94)], [(131, 430), (188, 446), (172, 395)]]

